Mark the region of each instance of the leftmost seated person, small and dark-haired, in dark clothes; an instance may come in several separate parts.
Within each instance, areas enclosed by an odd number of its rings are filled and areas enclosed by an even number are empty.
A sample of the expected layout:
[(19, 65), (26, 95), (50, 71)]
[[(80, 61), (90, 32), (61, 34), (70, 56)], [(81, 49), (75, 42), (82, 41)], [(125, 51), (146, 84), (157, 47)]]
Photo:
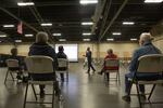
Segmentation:
[(10, 68), (10, 69), (11, 69), (11, 70), (18, 70), (16, 78), (17, 78), (18, 80), (22, 80), (22, 70), (23, 70), (22, 67), (23, 67), (23, 62), (22, 62), (21, 58), (17, 56), (17, 49), (16, 49), (16, 48), (11, 49), (11, 56), (10, 56), (10, 58), (12, 58), (12, 59), (17, 59), (17, 60), (18, 60), (18, 66), (20, 66), (20, 67)]

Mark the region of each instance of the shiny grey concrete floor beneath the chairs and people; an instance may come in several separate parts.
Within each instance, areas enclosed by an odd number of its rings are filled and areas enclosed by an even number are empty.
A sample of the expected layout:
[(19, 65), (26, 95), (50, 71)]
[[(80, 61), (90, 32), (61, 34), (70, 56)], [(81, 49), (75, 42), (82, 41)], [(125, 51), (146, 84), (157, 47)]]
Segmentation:
[[(96, 66), (97, 71), (100, 66)], [(124, 95), (124, 75), (126, 72), (124, 66), (121, 67), (121, 85), (115, 81), (105, 84), (103, 76), (98, 73), (90, 77), (86, 73), (82, 63), (70, 64), (70, 81), (61, 85), (64, 100), (58, 103), (55, 100), (55, 108), (138, 108), (138, 99), (136, 96), (131, 97), (131, 103), (127, 104), (122, 100)], [(0, 69), (0, 108), (23, 108), (25, 84), (16, 84), (8, 81), (3, 83), (7, 68)], [(111, 77), (113, 77), (112, 75)], [(36, 86), (37, 90), (38, 86)], [(147, 86), (149, 91), (151, 86)], [(136, 93), (135, 86), (133, 93)], [(163, 100), (163, 86), (158, 85), (152, 100)], [(37, 91), (39, 93), (39, 91)], [(46, 92), (51, 92), (51, 86), (46, 87)], [(28, 93), (28, 100), (34, 100), (32, 90)], [(51, 100), (50, 96), (45, 99)], [(49, 108), (50, 105), (27, 105), (26, 108)], [(145, 105), (145, 108), (163, 108), (161, 105)]]

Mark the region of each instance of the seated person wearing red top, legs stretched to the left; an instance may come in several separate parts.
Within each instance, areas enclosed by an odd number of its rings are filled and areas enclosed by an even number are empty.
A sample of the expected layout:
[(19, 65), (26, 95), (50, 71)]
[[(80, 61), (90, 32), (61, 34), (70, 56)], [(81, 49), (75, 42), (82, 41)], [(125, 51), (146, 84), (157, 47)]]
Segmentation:
[[(106, 53), (108, 53), (108, 55), (104, 57), (103, 67), (101, 69), (101, 71), (98, 72), (99, 75), (102, 75), (104, 72), (104, 70), (108, 69), (108, 67), (105, 67), (105, 59), (108, 59), (108, 58), (117, 58), (117, 56), (113, 53), (112, 49), (109, 49), (106, 51)], [(116, 69), (117, 67), (111, 67), (111, 68)], [(106, 72), (106, 79), (108, 79), (108, 81), (109, 81), (109, 78), (110, 78), (110, 75), (109, 75), (109, 72)]]

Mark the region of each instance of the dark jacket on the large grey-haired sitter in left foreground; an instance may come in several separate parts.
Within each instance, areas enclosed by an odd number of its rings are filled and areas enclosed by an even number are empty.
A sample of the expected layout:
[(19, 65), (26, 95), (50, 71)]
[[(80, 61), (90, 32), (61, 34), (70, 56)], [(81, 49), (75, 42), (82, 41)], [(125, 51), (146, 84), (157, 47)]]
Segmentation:
[(58, 67), (58, 59), (55, 55), (55, 51), (47, 43), (34, 43), (29, 48), (28, 55), (45, 55), (53, 58), (53, 66), (54, 68)]

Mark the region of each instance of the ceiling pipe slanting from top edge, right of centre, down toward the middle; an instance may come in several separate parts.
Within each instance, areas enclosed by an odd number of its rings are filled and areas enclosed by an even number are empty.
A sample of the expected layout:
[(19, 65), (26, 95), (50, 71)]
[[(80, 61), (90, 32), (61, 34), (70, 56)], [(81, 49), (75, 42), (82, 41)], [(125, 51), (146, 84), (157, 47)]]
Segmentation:
[(112, 24), (114, 23), (114, 21), (117, 18), (117, 16), (120, 15), (120, 13), (122, 12), (122, 10), (125, 8), (125, 5), (127, 4), (128, 0), (124, 0), (123, 4), (120, 6), (120, 9), (117, 10), (116, 14), (114, 15), (114, 17), (111, 19), (110, 24), (108, 25), (106, 29), (103, 31), (102, 36), (100, 37), (99, 41), (101, 41), (101, 39), (104, 37), (104, 35), (108, 32), (108, 30), (110, 29), (110, 27), (112, 26)]

